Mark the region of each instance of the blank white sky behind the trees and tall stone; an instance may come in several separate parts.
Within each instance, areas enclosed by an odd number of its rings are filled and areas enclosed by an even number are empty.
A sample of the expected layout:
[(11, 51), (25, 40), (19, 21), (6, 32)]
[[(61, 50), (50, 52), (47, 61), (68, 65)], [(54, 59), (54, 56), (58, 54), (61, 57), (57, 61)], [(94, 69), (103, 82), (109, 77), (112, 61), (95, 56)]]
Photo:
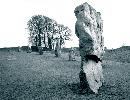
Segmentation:
[(66, 47), (78, 46), (74, 9), (88, 2), (103, 19), (103, 36), (107, 48), (130, 45), (130, 0), (1, 0), (0, 48), (28, 45), (27, 21), (33, 15), (45, 15), (72, 30)]

